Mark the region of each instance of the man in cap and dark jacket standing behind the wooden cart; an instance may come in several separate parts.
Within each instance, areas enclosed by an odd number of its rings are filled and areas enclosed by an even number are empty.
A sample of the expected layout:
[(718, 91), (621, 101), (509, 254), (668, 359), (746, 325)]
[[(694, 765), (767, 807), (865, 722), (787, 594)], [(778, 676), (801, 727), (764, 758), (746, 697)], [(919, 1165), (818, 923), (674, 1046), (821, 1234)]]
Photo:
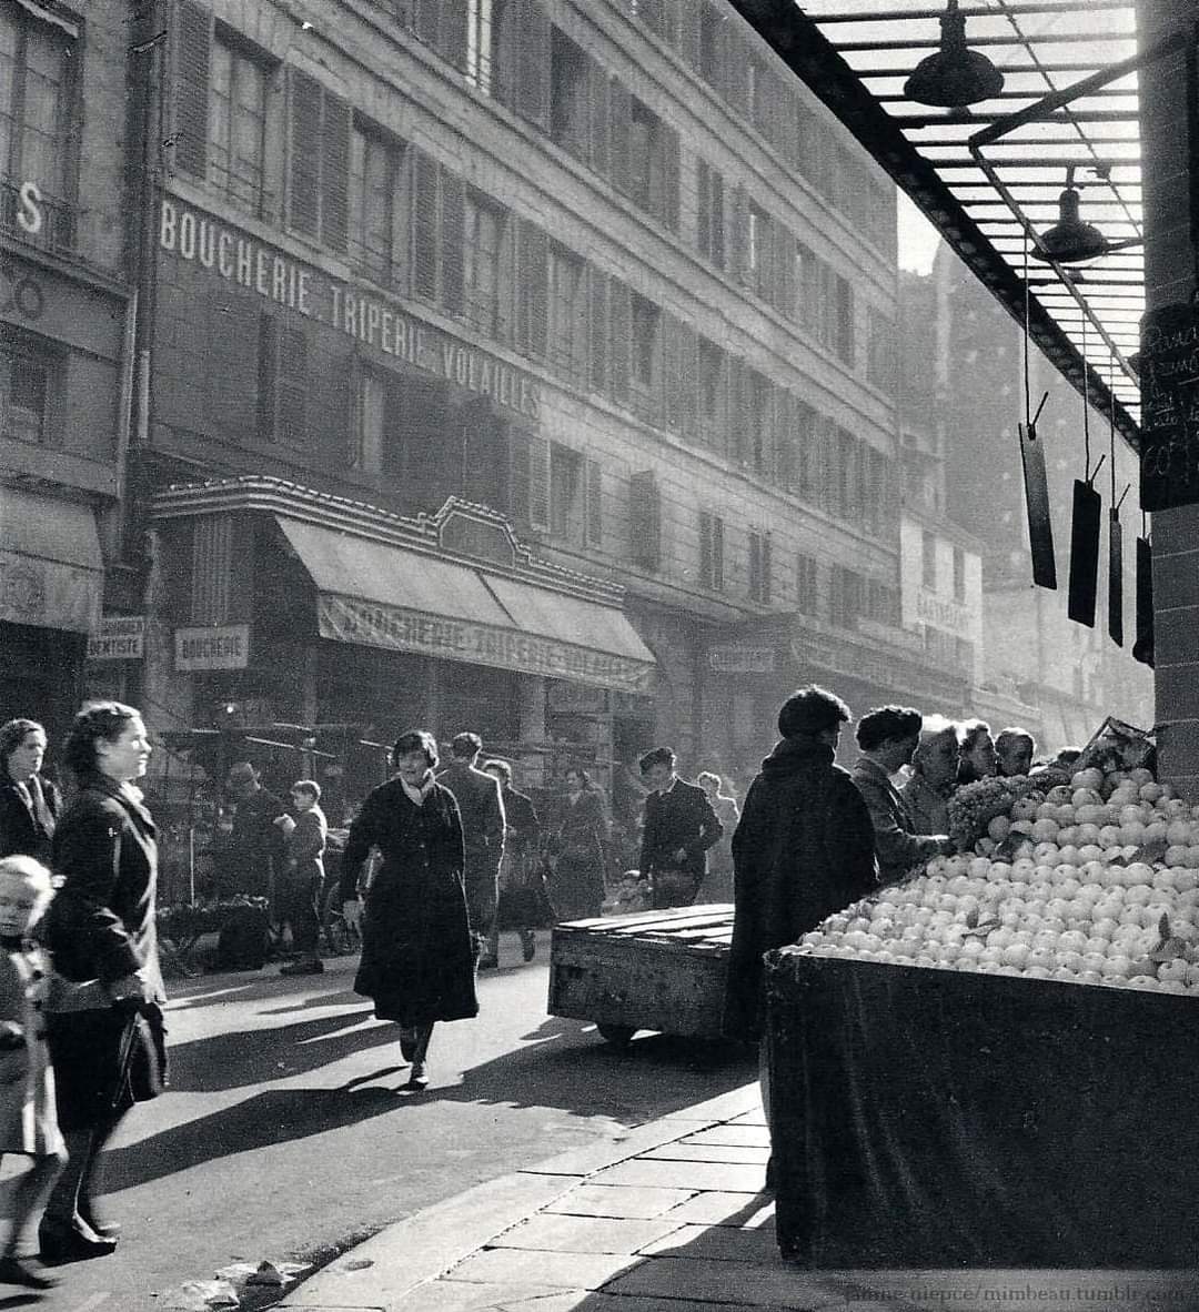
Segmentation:
[(703, 789), (674, 773), (674, 752), (656, 747), (638, 762), (649, 789), (638, 869), (649, 879), (655, 911), (690, 907), (707, 874), (707, 851), (724, 825)]

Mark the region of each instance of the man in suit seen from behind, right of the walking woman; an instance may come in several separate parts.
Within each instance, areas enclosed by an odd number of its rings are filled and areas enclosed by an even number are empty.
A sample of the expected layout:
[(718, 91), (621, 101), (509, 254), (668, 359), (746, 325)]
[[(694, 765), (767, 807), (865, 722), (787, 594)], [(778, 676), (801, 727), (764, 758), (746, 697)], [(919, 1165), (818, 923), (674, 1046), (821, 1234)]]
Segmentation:
[(479, 970), (493, 970), (498, 959), (487, 950), (500, 904), (500, 862), (504, 859), (504, 799), (500, 783), (476, 768), (483, 740), (455, 733), (450, 764), (439, 782), (454, 794), (466, 842), (466, 904), (479, 953)]

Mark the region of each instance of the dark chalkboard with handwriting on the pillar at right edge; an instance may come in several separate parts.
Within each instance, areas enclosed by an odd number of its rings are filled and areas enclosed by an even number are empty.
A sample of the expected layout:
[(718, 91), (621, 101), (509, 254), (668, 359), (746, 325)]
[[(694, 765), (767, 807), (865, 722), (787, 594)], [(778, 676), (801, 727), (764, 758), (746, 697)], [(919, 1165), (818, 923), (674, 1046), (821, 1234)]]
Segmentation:
[(1199, 502), (1199, 307), (1141, 319), (1141, 509)]

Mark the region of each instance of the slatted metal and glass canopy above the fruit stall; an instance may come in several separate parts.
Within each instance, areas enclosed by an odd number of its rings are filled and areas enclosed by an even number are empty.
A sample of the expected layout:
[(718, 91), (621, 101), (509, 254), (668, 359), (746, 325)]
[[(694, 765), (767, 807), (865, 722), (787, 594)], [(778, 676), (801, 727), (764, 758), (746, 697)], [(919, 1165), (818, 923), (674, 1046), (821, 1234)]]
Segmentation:
[[(941, 45), (945, 0), (729, 3), (1011, 315), (1023, 323), (1027, 310), (1034, 340), (1103, 412), (1114, 375), (1116, 425), (1137, 446), (1129, 357), (1144, 312), (1143, 248), (1114, 251), (1084, 269), (1032, 258), (1026, 265), (1025, 257), (1026, 247), (1030, 256), (1035, 249), (1028, 230), (1043, 234), (1057, 223), (1069, 168), (1085, 222), (1111, 243), (1141, 236), (1137, 79), (1115, 67), (1137, 52), (1131, 0), (963, 4), (967, 46), (1004, 73), (998, 94), (967, 109), (930, 108), (904, 92), (916, 66)], [(1057, 94), (1080, 83), (1082, 94)], [(1009, 121), (1021, 112), (1028, 113)]]

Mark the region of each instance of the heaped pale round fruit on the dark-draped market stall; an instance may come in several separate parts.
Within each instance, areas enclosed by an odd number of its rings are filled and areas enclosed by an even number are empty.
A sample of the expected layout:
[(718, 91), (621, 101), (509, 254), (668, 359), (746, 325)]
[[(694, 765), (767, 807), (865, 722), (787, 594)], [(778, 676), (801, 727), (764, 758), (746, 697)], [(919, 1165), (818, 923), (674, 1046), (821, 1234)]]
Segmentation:
[(800, 943), (815, 956), (1199, 997), (1199, 806), (1148, 770), (1081, 770), (1014, 800), (973, 854), (934, 857)]

